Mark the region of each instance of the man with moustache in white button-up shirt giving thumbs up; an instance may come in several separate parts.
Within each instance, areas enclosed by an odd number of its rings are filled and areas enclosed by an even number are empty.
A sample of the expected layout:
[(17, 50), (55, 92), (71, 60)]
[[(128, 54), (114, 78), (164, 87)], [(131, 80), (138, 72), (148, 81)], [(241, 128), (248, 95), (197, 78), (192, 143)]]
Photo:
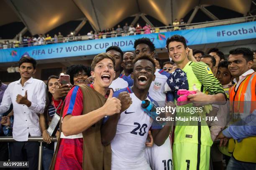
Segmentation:
[[(38, 166), (38, 142), (27, 142), (29, 136), (41, 136), (38, 114), (44, 112), (46, 102), (46, 85), (43, 81), (33, 79), (36, 72), (36, 60), (22, 57), (19, 61), (20, 80), (8, 85), (0, 105), (0, 114), (6, 112), (13, 104), (13, 138), (10, 143), (11, 161), (29, 161), (29, 169)], [(6, 124), (10, 122), (5, 117)]]

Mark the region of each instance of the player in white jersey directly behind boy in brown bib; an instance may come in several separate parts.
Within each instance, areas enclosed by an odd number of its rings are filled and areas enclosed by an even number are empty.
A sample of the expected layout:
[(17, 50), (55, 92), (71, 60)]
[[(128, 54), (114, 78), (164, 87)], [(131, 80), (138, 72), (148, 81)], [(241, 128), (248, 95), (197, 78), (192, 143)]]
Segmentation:
[(114, 91), (133, 85), (133, 80), (121, 75), (121, 63), (123, 61), (123, 51), (117, 46), (108, 47), (107, 54), (115, 59), (115, 78), (110, 85)]

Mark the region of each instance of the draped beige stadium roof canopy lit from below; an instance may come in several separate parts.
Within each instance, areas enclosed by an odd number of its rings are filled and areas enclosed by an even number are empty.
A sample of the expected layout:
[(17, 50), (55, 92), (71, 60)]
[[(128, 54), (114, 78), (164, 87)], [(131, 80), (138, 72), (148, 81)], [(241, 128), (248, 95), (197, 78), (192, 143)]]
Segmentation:
[(251, 4), (252, 0), (1, 0), (0, 26), (21, 20), (31, 34), (36, 35), (68, 21), (86, 18), (85, 22), (89, 21), (95, 30), (105, 30), (129, 16), (138, 18), (141, 14), (169, 25), (174, 18), (184, 18), (193, 9), (190, 18), (200, 9), (212, 20), (218, 20), (205, 8), (207, 5), (246, 15)]

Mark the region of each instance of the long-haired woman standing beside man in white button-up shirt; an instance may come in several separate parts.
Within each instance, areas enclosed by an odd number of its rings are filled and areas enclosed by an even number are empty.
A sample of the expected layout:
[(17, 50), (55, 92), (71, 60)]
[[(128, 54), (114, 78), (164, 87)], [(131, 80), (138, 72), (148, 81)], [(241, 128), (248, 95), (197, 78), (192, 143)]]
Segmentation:
[[(47, 128), (50, 125), (51, 119), (54, 116), (55, 108), (52, 101), (52, 96), (54, 91), (58, 86), (58, 76), (51, 75), (46, 82), (46, 105), (44, 109), (44, 114), (39, 115), (40, 127), (43, 136), (43, 167), (44, 170), (49, 170), (51, 165), (51, 160), (54, 155), (54, 143), (51, 143), (51, 136), (47, 133)], [(56, 132), (56, 137), (59, 139), (59, 130)]]

